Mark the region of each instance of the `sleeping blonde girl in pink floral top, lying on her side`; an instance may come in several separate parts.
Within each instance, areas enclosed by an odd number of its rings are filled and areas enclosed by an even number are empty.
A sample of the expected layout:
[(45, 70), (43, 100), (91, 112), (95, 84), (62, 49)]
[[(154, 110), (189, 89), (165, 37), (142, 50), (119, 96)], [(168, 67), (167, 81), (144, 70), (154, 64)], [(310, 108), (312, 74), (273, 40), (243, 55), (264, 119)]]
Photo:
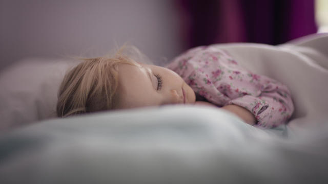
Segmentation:
[(214, 46), (190, 49), (167, 67), (146, 64), (147, 57), (135, 47), (83, 60), (61, 82), (58, 117), (168, 104), (210, 105), (245, 123), (272, 128), (286, 123), (294, 111), (288, 87), (245, 70)]

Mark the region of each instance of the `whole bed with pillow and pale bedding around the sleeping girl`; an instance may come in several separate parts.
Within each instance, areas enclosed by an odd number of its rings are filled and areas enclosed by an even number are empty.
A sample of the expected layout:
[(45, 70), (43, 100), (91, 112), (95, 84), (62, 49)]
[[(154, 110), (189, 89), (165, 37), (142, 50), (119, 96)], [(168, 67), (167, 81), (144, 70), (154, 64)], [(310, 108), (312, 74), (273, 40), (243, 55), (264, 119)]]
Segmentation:
[(290, 87), (293, 117), (269, 130), (180, 105), (57, 119), (58, 85), (76, 63), (21, 61), (0, 76), (2, 183), (327, 183), (327, 46), (328, 34), (215, 45)]

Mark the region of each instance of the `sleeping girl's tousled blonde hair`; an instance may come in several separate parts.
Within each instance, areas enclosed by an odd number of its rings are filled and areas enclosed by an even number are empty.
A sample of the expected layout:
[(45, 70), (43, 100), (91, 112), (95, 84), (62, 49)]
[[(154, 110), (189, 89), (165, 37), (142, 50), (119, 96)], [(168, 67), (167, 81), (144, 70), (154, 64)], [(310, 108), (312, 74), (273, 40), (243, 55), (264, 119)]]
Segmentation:
[(148, 60), (133, 46), (121, 47), (114, 56), (83, 58), (64, 77), (58, 90), (57, 116), (115, 109), (118, 103), (118, 65)]

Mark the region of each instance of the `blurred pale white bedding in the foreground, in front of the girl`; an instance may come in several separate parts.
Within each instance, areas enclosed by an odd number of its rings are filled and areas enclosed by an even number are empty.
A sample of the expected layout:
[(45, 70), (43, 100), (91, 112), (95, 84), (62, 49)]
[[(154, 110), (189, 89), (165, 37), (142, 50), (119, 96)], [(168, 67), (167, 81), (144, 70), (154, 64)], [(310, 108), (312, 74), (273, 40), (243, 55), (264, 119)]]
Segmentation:
[[(144, 114), (144, 115), (142, 115)], [(96, 113), (0, 136), (1, 183), (327, 183), (328, 126), (281, 140), (210, 107)]]

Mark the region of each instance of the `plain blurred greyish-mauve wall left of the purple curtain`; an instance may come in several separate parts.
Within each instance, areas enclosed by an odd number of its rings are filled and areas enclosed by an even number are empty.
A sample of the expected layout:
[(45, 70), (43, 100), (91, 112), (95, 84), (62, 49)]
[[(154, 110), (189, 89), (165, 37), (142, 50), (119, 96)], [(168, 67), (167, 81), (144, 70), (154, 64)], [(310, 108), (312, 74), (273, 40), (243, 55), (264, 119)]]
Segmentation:
[(0, 68), (28, 57), (101, 55), (126, 41), (155, 61), (180, 53), (174, 1), (0, 0)]

